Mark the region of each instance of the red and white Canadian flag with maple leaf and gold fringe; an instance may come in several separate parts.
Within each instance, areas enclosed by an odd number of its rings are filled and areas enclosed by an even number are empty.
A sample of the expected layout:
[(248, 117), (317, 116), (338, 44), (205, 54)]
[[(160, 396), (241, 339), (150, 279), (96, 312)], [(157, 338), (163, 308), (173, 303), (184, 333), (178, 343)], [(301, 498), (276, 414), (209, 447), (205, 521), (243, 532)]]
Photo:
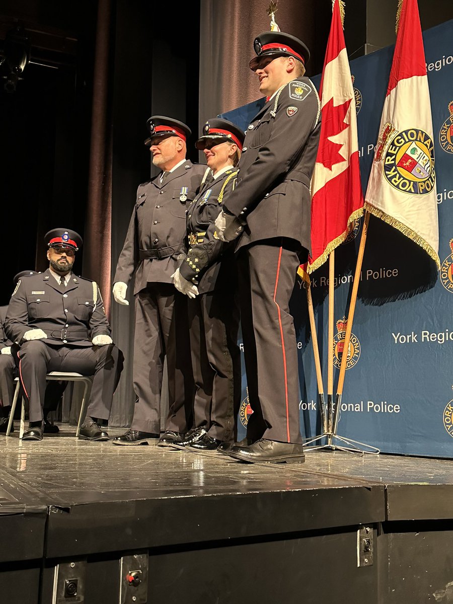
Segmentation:
[(312, 176), (313, 272), (344, 242), (363, 213), (354, 89), (342, 27), (342, 2), (334, 0), (321, 77), (321, 134)]

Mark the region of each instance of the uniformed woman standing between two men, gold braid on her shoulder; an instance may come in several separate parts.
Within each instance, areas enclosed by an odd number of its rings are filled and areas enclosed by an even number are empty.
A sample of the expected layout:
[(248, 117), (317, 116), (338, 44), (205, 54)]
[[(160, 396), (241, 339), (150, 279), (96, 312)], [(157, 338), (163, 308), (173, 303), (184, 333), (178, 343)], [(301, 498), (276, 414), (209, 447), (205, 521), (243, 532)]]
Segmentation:
[[(204, 150), (212, 178), (202, 184), (187, 210), (188, 253), (175, 274), (184, 292), (193, 283), (199, 295), (188, 300), (190, 349), (195, 378), (194, 428), (177, 448), (214, 451), (236, 437), (240, 405), (240, 353), (234, 246), (217, 237), (213, 221), (234, 190), (244, 133), (213, 118), (196, 143)], [(209, 267), (209, 268), (208, 268)]]

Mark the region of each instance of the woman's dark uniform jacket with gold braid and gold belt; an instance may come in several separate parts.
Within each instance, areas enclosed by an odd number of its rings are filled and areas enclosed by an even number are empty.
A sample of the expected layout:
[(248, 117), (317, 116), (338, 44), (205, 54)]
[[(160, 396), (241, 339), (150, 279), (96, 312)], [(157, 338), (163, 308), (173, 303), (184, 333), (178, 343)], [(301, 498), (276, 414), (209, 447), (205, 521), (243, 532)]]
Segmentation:
[(231, 288), (234, 245), (219, 240), (213, 223), (223, 200), (234, 190), (237, 174), (232, 166), (214, 181), (208, 181), (187, 209), (188, 252), (179, 270), (182, 277), (197, 284), (200, 294), (222, 285)]

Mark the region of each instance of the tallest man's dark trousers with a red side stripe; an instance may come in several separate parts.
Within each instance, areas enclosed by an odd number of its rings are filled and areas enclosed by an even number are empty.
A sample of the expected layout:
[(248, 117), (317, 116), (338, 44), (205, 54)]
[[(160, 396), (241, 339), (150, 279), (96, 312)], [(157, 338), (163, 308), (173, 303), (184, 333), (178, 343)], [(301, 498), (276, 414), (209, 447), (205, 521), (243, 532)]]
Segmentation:
[(301, 443), (297, 341), (289, 298), (300, 257), (284, 239), (238, 253), (248, 397), (247, 437)]

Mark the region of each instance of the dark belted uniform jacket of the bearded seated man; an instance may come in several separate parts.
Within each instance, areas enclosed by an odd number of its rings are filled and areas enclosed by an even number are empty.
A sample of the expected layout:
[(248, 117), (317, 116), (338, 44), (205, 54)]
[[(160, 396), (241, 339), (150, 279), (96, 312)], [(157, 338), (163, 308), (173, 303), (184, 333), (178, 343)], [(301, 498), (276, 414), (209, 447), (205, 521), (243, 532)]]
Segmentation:
[(111, 334), (97, 284), (71, 273), (65, 288), (49, 269), (19, 280), (11, 296), (7, 336), (23, 344), (30, 329), (42, 329), (53, 346), (88, 347), (94, 336)]

